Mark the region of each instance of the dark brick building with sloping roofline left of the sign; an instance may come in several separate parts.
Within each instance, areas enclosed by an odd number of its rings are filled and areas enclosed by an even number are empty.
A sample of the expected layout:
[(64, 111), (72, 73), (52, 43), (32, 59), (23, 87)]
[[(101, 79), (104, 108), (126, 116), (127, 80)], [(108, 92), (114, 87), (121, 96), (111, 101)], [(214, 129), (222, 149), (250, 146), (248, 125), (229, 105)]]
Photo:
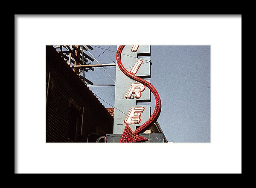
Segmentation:
[(53, 46), (46, 46), (46, 142), (113, 134), (113, 117)]

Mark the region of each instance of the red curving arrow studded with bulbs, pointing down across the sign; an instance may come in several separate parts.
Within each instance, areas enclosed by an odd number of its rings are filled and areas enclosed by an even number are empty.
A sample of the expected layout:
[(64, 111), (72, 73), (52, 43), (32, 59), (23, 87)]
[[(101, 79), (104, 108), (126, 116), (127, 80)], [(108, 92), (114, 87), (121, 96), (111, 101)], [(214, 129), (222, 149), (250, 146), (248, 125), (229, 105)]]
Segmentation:
[(122, 65), (121, 54), (122, 54), (122, 50), (124, 47), (125, 47), (125, 45), (119, 46), (117, 49), (117, 52), (116, 52), (116, 62), (117, 62), (118, 67), (126, 76), (128, 76), (129, 78), (131, 78), (139, 83), (142, 83), (143, 85), (148, 87), (150, 89), (150, 91), (154, 94), (156, 104), (155, 104), (154, 112), (151, 115), (151, 117), (145, 123), (143, 123), (143, 125), (141, 125), (139, 128), (137, 128), (135, 131), (131, 131), (131, 128), (126, 123), (125, 130), (122, 134), (120, 142), (144, 142), (144, 141), (147, 141), (147, 139), (144, 137), (141, 137), (138, 134), (143, 133), (145, 130), (150, 128), (154, 124), (154, 122), (157, 121), (157, 118), (159, 117), (160, 111), (161, 111), (161, 100), (160, 100), (157, 90), (154, 88), (153, 85), (151, 85), (151, 83), (149, 83), (148, 81), (146, 81), (140, 77), (135, 76), (134, 74), (131, 74)]

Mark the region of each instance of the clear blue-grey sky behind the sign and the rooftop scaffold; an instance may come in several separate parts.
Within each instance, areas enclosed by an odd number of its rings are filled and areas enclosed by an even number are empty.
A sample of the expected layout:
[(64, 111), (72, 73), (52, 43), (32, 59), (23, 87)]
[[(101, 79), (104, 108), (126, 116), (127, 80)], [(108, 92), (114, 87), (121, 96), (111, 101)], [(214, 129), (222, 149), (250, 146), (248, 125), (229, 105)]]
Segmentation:
[[(103, 53), (101, 48), (108, 49)], [(99, 63), (113, 63), (116, 46), (93, 46)], [(104, 50), (105, 51), (105, 50)], [(158, 122), (168, 141), (210, 142), (210, 46), (151, 46), (151, 83), (162, 101)], [(89, 61), (90, 62), (90, 61)], [(94, 61), (92, 64), (96, 64)], [(114, 84), (115, 67), (95, 68), (86, 78), (95, 85)], [(90, 87), (114, 106), (114, 86)], [(99, 99), (100, 100), (100, 99)], [(103, 100), (105, 107), (111, 107)], [(154, 107), (152, 97), (151, 107)]]

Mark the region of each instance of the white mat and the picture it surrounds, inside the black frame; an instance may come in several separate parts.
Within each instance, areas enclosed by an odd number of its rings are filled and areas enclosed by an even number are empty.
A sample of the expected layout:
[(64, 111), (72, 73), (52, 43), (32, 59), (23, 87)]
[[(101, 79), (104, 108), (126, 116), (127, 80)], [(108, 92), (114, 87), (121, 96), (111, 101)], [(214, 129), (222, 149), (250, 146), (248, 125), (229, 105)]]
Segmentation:
[(241, 174), (241, 14), (15, 14), (14, 48), (15, 174)]

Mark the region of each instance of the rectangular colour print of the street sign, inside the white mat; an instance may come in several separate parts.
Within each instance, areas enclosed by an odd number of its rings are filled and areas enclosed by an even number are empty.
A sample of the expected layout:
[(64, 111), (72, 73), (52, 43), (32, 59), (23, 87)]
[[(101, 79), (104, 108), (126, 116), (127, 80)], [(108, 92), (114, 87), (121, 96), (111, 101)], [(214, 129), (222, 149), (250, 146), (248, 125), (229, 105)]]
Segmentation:
[(46, 46), (46, 142), (210, 142), (210, 46)]

